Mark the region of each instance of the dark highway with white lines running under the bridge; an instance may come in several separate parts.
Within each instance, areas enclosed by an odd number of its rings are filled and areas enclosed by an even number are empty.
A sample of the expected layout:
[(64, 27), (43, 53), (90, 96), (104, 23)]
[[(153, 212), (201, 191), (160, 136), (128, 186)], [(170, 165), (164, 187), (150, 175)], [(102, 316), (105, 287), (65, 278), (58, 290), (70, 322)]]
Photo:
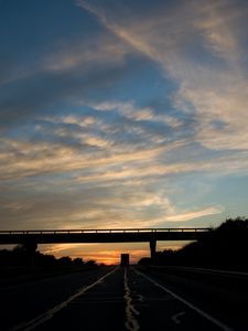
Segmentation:
[(247, 302), (246, 274), (101, 267), (0, 289), (0, 330), (246, 331)]

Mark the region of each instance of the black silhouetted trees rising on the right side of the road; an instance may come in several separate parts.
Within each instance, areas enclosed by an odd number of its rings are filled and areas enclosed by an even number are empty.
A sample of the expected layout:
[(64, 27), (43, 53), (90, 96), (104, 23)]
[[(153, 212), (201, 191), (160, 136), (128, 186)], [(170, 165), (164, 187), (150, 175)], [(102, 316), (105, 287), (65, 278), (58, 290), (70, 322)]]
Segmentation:
[(192, 242), (179, 250), (157, 252), (153, 260), (144, 257), (139, 264), (248, 270), (248, 218), (227, 218), (213, 228), (211, 236)]

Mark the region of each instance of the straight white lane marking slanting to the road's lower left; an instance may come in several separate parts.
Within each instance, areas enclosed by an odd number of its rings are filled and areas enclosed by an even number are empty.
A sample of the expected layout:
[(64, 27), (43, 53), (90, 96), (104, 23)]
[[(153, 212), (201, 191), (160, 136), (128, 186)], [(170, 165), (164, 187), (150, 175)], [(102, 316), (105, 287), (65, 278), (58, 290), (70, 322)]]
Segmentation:
[(63, 308), (65, 308), (71, 301), (73, 301), (74, 299), (76, 299), (77, 297), (84, 295), (87, 290), (91, 289), (94, 286), (100, 284), (103, 280), (105, 280), (108, 276), (110, 276), (111, 274), (114, 274), (117, 269), (119, 269), (119, 267), (115, 268), (114, 270), (111, 270), (110, 273), (106, 274), (105, 276), (100, 277), (99, 279), (97, 279), (95, 282), (80, 288), (77, 292), (75, 292), (74, 295), (72, 295), (67, 300), (62, 301), (61, 303), (56, 305), (55, 307), (53, 307), (52, 309), (45, 311), (44, 313), (37, 316), (36, 318), (24, 322), (24, 323), (20, 323), (15, 327), (13, 327), (12, 329), (10, 329), (10, 331), (30, 331), (35, 329), (36, 327), (43, 324), (44, 322), (46, 322), (47, 320), (52, 319), (54, 317), (55, 313), (57, 313), (58, 311), (61, 311)]

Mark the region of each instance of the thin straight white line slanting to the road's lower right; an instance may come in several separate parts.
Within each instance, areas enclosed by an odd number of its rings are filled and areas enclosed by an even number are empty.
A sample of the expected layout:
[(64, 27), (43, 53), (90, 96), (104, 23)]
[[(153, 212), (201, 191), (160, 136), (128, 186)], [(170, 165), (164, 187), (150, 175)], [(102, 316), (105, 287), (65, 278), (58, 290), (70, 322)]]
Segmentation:
[(228, 325), (224, 324), (223, 322), (220, 322), (219, 320), (217, 320), (216, 318), (212, 317), (211, 314), (208, 314), (207, 312), (203, 311), (202, 309), (197, 308), (196, 306), (192, 305), (191, 302), (188, 302), (187, 300), (183, 299), (182, 297), (177, 296), (176, 293), (174, 293), (173, 291), (171, 291), (170, 289), (165, 288), (163, 285), (157, 282), (155, 280), (153, 280), (152, 278), (150, 278), (149, 276), (144, 275), (141, 271), (134, 270), (138, 275), (143, 276), (144, 278), (147, 278), (148, 280), (150, 280), (153, 285), (160, 287), (161, 289), (163, 289), (165, 292), (170, 293), (172, 297), (174, 297), (175, 299), (180, 300), (181, 302), (183, 302), (184, 305), (186, 305), (187, 307), (190, 307), (191, 309), (193, 309), (194, 311), (196, 311), (197, 313), (200, 313), (202, 317), (204, 317), (205, 319), (207, 319), (208, 321), (211, 321), (212, 323), (214, 323), (215, 325), (217, 325), (218, 328), (223, 329), (224, 331), (234, 331), (234, 329), (229, 328)]

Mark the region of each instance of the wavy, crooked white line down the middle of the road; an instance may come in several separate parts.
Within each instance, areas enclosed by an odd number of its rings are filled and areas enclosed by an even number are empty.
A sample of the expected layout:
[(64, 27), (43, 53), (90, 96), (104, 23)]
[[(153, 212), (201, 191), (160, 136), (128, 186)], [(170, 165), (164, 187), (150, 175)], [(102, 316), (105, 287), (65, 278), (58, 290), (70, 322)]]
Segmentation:
[(129, 331), (138, 331), (138, 330), (140, 330), (140, 325), (139, 325), (139, 322), (136, 319), (136, 316), (139, 316), (139, 311), (132, 305), (131, 290), (128, 286), (128, 271), (127, 271), (127, 268), (125, 268), (123, 284), (125, 284), (125, 296), (123, 296), (123, 298), (126, 300), (126, 316), (127, 316), (127, 321), (125, 323), (125, 327)]

